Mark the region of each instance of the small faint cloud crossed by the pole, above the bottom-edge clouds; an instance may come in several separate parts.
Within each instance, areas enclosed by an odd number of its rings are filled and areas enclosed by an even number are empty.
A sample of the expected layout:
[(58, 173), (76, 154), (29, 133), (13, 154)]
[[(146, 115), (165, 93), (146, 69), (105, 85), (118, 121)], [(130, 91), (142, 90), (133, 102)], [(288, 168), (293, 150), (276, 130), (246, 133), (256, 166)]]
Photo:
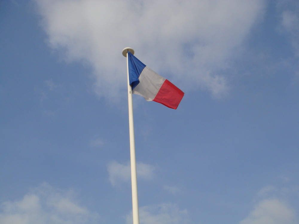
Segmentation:
[[(155, 167), (152, 165), (136, 162), (137, 177), (141, 179), (151, 179), (154, 176)], [(113, 186), (121, 182), (129, 182), (131, 180), (131, 165), (120, 164), (112, 161), (108, 164), (109, 181)]]

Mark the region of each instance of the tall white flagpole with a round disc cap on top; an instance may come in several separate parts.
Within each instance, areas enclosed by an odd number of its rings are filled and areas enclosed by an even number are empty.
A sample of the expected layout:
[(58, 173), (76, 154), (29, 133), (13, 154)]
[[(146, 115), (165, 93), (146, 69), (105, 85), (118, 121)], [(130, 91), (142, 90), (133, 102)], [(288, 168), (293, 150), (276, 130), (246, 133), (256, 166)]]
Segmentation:
[(131, 87), (131, 85), (129, 83), (129, 60), (128, 60), (128, 52), (131, 52), (132, 54), (134, 54), (134, 50), (131, 47), (126, 47), (126, 48), (123, 49), (122, 53), (123, 53), (123, 56), (125, 56), (127, 58), (133, 224), (139, 224), (138, 193), (137, 193), (137, 172), (136, 172), (134, 121), (133, 121), (133, 100), (132, 100), (132, 87)]

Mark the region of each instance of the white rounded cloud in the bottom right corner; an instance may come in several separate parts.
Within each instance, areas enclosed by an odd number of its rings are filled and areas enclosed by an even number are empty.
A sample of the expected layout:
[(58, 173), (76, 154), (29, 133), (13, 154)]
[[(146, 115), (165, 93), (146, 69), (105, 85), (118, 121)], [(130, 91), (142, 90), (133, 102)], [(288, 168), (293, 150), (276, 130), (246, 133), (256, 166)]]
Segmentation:
[(298, 224), (295, 212), (282, 200), (265, 199), (239, 224)]

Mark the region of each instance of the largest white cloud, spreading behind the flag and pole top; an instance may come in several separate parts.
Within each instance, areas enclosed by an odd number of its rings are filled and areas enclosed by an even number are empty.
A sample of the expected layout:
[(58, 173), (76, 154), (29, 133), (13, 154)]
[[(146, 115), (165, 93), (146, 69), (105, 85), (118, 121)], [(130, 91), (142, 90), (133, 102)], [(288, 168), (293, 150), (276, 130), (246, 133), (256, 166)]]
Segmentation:
[(36, 3), (51, 48), (91, 65), (96, 92), (110, 98), (126, 89), (124, 47), (175, 84), (221, 95), (228, 89), (222, 71), (264, 7), (264, 0)]

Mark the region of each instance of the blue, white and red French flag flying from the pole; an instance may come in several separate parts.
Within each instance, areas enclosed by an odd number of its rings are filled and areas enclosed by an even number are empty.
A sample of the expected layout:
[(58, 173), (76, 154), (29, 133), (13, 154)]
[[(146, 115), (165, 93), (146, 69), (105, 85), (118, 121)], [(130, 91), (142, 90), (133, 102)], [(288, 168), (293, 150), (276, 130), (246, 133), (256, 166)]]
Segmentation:
[(129, 84), (132, 93), (176, 109), (184, 96), (182, 90), (161, 77), (128, 52)]

